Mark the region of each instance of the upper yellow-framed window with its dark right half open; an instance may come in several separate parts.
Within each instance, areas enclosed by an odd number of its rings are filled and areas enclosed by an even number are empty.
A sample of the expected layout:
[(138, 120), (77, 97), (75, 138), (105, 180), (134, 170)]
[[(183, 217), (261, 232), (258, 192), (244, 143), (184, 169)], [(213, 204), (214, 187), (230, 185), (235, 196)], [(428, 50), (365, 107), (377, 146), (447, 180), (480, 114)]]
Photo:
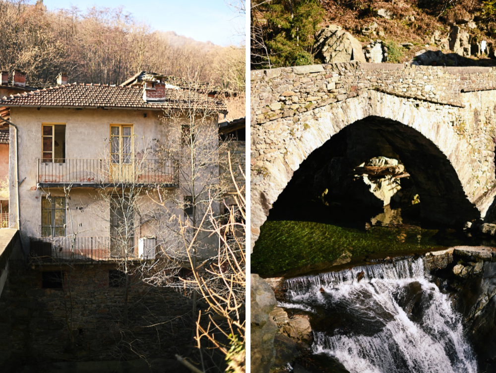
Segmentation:
[(42, 124), (43, 162), (65, 163), (65, 123)]

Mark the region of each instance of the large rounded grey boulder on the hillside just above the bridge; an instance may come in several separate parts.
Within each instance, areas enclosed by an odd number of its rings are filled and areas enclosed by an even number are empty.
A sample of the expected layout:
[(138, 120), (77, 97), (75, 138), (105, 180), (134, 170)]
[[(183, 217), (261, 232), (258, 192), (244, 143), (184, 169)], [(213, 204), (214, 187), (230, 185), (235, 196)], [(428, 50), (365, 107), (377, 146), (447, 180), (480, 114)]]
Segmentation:
[(329, 25), (321, 29), (316, 36), (315, 50), (317, 56), (326, 64), (360, 61), (366, 62), (362, 44), (340, 26)]

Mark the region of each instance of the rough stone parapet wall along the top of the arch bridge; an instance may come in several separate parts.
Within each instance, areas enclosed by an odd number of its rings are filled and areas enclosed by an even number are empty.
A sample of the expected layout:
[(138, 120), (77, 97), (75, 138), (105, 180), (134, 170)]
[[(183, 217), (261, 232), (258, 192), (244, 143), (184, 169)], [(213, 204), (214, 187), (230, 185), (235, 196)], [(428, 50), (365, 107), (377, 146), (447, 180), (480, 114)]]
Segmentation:
[(486, 67), (340, 63), (251, 71), (251, 124), (310, 111), (367, 89), (464, 107), (462, 93), (496, 89)]

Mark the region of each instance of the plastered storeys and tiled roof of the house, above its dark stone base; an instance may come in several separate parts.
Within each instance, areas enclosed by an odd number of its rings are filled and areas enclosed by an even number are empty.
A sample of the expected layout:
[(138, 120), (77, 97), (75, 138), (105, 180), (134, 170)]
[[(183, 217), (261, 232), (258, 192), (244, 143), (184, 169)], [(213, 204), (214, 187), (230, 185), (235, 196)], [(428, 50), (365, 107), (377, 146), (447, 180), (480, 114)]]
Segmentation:
[[(113, 216), (110, 207), (103, 211), (97, 206), (102, 202), (102, 188), (123, 183), (148, 189), (179, 187), (175, 160), (156, 159), (150, 151), (154, 140), (166, 143), (170, 136), (159, 118), (162, 110), (179, 109), (186, 100), (205, 100), (218, 111), (225, 111), (225, 106), (201, 94), (186, 95), (184, 90), (166, 85), (160, 76), (139, 87), (70, 84), (66, 75), (60, 75), (58, 83), (0, 101), (10, 109), (9, 122), (13, 124), (9, 179), (19, 183), (9, 186), (9, 227), (20, 230), (25, 247), (47, 241), (38, 238), (69, 236), (77, 227), (81, 258), (89, 255), (96, 259), (95, 255), (108, 255), (102, 247), (109, 245), (115, 232), (111, 222), (123, 218)], [(211, 125), (218, 126), (216, 118)], [(65, 206), (64, 187), (69, 186), (71, 201), (77, 203)], [(70, 207), (79, 212), (71, 214), (69, 222)], [(107, 214), (101, 222), (95, 219), (96, 211)], [(139, 231), (133, 245), (140, 245), (140, 250), (147, 244), (143, 237), (154, 235), (145, 225), (133, 224)], [(95, 239), (89, 240), (89, 248), (83, 239), (95, 237), (101, 237), (97, 254), (88, 252), (91, 247), (95, 250)]]

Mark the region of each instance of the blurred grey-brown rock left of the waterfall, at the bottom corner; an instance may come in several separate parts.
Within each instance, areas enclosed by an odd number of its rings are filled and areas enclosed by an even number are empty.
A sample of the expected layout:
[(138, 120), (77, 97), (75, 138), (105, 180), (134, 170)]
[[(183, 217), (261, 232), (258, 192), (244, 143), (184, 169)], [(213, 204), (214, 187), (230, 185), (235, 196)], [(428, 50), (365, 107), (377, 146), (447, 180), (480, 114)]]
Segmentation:
[(270, 286), (258, 275), (251, 274), (250, 278), (251, 372), (268, 373), (275, 362), (277, 325), (269, 313), (276, 305), (276, 298)]

